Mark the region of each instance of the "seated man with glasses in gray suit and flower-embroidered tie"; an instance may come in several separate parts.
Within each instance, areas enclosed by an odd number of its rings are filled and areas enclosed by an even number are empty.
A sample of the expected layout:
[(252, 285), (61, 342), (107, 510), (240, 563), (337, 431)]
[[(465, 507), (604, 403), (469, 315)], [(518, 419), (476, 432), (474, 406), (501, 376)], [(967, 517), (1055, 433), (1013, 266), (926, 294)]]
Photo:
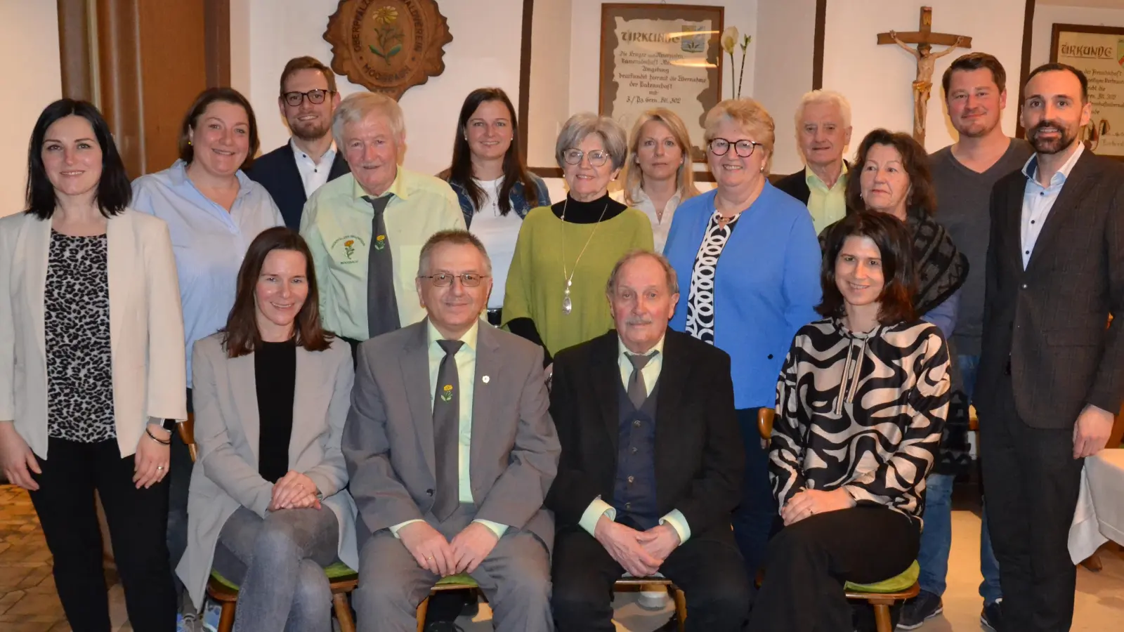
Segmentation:
[(414, 632), (433, 585), (466, 572), (496, 630), (552, 630), (543, 500), (560, 448), (542, 347), (481, 326), (491, 262), (465, 231), (426, 242), (417, 290), (424, 320), (359, 347), (344, 428), (359, 629)]

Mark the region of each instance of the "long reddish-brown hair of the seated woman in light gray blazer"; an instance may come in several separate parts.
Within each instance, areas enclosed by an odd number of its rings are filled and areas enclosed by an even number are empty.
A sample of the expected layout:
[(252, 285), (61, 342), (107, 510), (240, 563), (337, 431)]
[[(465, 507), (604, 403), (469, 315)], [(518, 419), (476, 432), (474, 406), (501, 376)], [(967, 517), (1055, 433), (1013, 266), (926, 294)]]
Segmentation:
[(320, 323), (320, 294), (316, 287), (316, 269), (308, 244), (296, 231), (275, 226), (263, 231), (250, 243), (246, 258), (238, 270), (238, 289), (234, 296), (234, 307), (230, 308), (226, 327), (223, 328), (223, 345), (227, 358), (253, 353), (262, 343), (261, 332), (257, 331), (254, 290), (257, 287), (257, 277), (262, 274), (265, 258), (275, 250), (288, 250), (305, 255), (308, 296), (297, 313), (293, 326), (293, 338), (297, 344), (308, 351), (324, 351), (335, 337), (332, 333), (325, 332)]

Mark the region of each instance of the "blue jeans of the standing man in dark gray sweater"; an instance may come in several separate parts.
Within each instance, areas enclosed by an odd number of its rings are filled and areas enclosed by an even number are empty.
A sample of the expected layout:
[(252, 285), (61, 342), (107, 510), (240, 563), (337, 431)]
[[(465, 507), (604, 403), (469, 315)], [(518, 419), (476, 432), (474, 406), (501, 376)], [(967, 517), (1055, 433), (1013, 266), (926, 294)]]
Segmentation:
[[(979, 368), (978, 355), (958, 355), (960, 372), (963, 374), (964, 394), (971, 401)], [(917, 563), (921, 576), (917, 584), (922, 590), (943, 595), (945, 577), (949, 572), (949, 550), (952, 548), (952, 475), (932, 473), (925, 479), (925, 530), (921, 534), (921, 551)], [(994, 604), (1003, 597), (999, 587), (999, 562), (991, 549), (991, 536), (987, 527), (987, 506), (980, 513), (980, 596), (985, 604)]]

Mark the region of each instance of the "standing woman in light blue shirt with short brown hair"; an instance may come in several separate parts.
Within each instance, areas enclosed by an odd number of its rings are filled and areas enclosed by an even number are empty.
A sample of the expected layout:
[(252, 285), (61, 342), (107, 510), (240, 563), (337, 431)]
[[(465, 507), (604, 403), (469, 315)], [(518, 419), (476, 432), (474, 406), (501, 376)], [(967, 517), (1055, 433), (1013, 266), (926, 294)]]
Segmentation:
[[(133, 208), (166, 222), (172, 235), (183, 304), (189, 413), (192, 346), (226, 325), (250, 243), (262, 231), (284, 225), (265, 188), (242, 172), (257, 147), (250, 101), (230, 88), (210, 88), (183, 117), (180, 160), (133, 182)], [(167, 548), (175, 568), (187, 547), (191, 457), (179, 435), (172, 436)]]

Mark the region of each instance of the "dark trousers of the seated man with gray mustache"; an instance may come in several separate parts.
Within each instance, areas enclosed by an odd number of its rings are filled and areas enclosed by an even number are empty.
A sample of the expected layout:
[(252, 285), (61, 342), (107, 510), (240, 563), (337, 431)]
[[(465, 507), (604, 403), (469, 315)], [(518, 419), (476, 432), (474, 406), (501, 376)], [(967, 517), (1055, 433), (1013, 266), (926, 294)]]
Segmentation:
[[(691, 538), (660, 572), (687, 594), (687, 630), (740, 632), (750, 611), (750, 580), (733, 542)], [(610, 632), (613, 584), (624, 568), (581, 529), (554, 536), (551, 608), (558, 632)]]

